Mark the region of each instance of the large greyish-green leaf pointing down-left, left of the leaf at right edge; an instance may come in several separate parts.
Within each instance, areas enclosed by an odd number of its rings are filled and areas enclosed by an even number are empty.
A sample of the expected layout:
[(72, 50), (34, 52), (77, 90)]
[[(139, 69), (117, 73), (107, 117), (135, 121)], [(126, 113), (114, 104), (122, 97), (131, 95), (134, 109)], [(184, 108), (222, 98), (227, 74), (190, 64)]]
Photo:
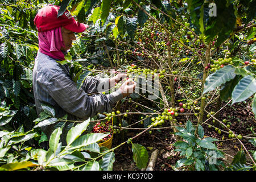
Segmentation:
[(225, 67), (218, 69), (212, 75), (209, 75), (205, 80), (203, 94), (214, 90), (217, 86), (221, 86), (225, 82), (232, 80), (236, 74), (234, 73), (235, 67), (226, 65)]

